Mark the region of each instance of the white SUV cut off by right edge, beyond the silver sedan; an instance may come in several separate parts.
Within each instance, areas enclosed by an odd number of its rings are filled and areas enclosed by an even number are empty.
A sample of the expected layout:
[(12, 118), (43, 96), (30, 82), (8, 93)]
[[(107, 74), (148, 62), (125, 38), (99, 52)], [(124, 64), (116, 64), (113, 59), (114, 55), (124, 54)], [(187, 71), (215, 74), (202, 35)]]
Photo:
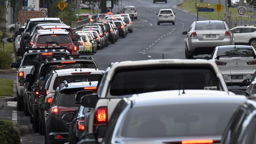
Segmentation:
[(254, 26), (237, 26), (231, 30), (236, 31), (234, 38), (236, 44), (249, 44), (256, 48), (256, 25)]

